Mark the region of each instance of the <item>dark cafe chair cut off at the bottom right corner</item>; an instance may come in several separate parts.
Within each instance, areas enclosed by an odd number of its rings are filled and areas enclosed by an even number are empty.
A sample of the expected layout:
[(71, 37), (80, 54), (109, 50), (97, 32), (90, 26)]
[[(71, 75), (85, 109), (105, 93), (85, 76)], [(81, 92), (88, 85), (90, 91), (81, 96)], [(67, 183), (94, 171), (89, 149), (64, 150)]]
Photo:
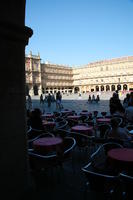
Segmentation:
[(123, 200), (132, 199), (132, 190), (133, 190), (133, 173), (131, 172), (121, 172), (120, 173), (121, 181), (121, 195)]

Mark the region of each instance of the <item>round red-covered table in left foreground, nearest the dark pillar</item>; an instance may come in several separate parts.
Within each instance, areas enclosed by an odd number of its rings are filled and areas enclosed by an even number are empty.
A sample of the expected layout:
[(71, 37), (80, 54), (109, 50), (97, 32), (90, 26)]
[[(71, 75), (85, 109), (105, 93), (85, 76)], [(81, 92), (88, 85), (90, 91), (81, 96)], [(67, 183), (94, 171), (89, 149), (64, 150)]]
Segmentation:
[(35, 140), (33, 148), (40, 153), (48, 153), (50, 151), (57, 151), (62, 144), (63, 140), (59, 137), (44, 137)]

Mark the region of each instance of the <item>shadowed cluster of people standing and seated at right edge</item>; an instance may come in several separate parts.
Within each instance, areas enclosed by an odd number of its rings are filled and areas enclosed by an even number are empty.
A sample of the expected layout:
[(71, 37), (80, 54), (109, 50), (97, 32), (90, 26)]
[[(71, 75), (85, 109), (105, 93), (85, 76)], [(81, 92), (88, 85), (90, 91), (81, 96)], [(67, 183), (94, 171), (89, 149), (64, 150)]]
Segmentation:
[[(112, 115), (111, 127), (112, 130), (109, 133), (109, 137), (123, 140), (125, 146), (133, 146), (131, 141), (132, 136), (129, 135), (127, 129), (128, 124), (133, 124), (133, 92), (127, 93), (123, 100), (123, 103), (119, 99), (118, 92), (114, 92), (113, 96), (109, 100), (110, 114)], [(119, 120), (117, 117), (121, 117), (122, 125), (119, 126)]]

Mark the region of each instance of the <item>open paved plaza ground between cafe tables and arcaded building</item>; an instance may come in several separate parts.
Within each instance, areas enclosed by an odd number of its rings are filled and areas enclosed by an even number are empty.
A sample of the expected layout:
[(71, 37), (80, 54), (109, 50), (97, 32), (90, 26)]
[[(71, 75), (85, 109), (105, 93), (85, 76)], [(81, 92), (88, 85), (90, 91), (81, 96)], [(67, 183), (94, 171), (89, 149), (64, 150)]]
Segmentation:
[[(94, 110), (98, 110), (99, 113), (101, 111), (106, 111), (109, 113), (109, 99), (112, 96), (113, 92), (101, 92), (100, 94), (100, 102), (96, 103), (88, 103), (88, 96), (89, 94), (92, 96), (92, 94), (97, 95), (97, 93), (84, 93), (79, 96), (79, 94), (64, 94), (62, 95), (62, 105), (64, 109), (71, 109), (75, 110), (77, 113), (81, 112), (82, 110), (88, 110), (90, 112)], [(121, 102), (123, 101), (124, 97), (126, 96), (126, 93), (119, 93), (119, 97)], [(56, 103), (52, 102), (51, 107), (48, 108), (47, 102), (44, 103), (44, 105), (40, 105), (39, 96), (32, 96), (32, 108), (40, 108), (45, 112), (53, 112), (57, 111), (56, 109)]]

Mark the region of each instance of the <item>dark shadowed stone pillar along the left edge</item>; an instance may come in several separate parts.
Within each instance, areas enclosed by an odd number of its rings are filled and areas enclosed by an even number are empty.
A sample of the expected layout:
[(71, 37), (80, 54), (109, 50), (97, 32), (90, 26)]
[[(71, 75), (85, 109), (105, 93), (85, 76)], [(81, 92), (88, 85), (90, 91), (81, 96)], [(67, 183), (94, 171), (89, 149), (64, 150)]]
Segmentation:
[(0, 3), (0, 191), (20, 199), (28, 188), (25, 108), (25, 0)]

